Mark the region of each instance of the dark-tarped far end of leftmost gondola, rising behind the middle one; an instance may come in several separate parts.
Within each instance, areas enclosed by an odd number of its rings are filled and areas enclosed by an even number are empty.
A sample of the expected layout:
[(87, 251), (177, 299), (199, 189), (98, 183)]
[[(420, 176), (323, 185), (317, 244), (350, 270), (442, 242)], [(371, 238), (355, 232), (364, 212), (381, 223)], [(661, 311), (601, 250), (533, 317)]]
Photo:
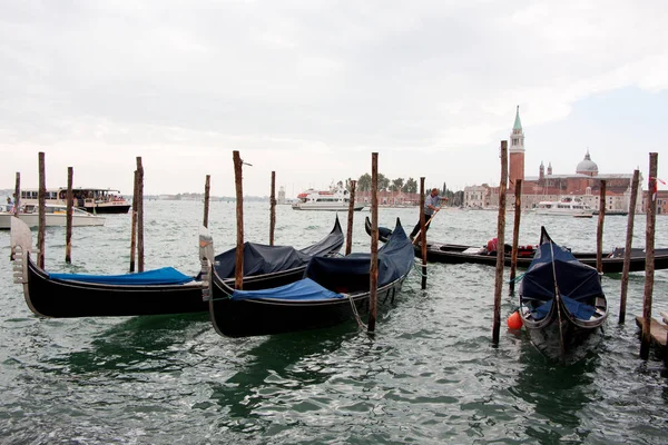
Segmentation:
[[(343, 245), (343, 231), (338, 217), (334, 228), (325, 238), (301, 250), (289, 246), (268, 246), (257, 243), (244, 244), (244, 276), (272, 274), (306, 265), (313, 256), (336, 251)], [(220, 278), (234, 278), (236, 248), (216, 255), (216, 274)]]

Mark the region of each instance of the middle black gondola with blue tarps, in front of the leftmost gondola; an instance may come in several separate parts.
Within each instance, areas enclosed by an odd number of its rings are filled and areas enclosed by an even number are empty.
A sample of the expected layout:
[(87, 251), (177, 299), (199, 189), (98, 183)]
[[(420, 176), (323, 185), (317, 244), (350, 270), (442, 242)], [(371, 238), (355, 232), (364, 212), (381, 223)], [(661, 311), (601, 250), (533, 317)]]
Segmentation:
[[(377, 303), (391, 304), (415, 259), (411, 240), (396, 227), (379, 249)], [(224, 336), (273, 335), (334, 326), (369, 308), (371, 255), (314, 257), (303, 279), (265, 290), (235, 290), (213, 271), (210, 318)]]

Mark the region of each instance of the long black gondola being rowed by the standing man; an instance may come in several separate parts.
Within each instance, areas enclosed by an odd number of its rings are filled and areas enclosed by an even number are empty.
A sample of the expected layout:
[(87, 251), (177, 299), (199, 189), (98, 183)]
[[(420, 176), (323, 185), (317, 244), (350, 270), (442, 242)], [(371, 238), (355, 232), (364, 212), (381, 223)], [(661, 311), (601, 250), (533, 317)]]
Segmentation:
[[(371, 221), (366, 218), (366, 233), (371, 234)], [(384, 243), (392, 230), (385, 227), (379, 228), (379, 239)], [(623, 270), (623, 248), (616, 248), (603, 253), (601, 258), (603, 274), (621, 274)], [(511, 246), (504, 246), (504, 264), (510, 267)], [(518, 250), (518, 267), (528, 268), (531, 264), (536, 246), (520, 246)], [(573, 253), (580, 263), (596, 267), (596, 253)], [(420, 245), (415, 244), (415, 256), (421, 257)], [(458, 244), (432, 243), (426, 244), (426, 260), (430, 263), (464, 264), (474, 263), (488, 266), (497, 266), (497, 251), (490, 250), (488, 246), (465, 246)], [(668, 248), (655, 249), (655, 269), (668, 269)], [(629, 271), (645, 271), (645, 250), (631, 249), (631, 261)]]

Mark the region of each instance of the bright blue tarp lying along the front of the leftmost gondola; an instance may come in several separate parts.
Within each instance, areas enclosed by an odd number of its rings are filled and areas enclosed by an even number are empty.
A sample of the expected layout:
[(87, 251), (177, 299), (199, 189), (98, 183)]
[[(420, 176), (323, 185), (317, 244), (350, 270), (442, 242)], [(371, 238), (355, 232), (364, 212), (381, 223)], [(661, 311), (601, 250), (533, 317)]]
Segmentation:
[(65, 281), (97, 283), (104, 285), (181, 285), (193, 281), (189, 277), (174, 267), (163, 267), (160, 269), (141, 271), (138, 274), (122, 275), (87, 275), (87, 274), (49, 274), (51, 279)]

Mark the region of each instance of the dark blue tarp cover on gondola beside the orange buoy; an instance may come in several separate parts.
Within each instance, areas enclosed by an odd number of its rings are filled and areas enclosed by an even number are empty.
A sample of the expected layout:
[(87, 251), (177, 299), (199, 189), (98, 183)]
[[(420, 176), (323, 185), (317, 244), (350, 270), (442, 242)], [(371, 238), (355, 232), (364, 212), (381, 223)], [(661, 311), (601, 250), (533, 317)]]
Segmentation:
[[(593, 267), (578, 261), (569, 250), (554, 243), (542, 243), (522, 277), (522, 298), (551, 301), (556, 285), (571, 315), (579, 319), (589, 319), (596, 310), (590, 303), (603, 295), (599, 274)], [(550, 307), (550, 304), (538, 306), (534, 317), (544, 317)]]

